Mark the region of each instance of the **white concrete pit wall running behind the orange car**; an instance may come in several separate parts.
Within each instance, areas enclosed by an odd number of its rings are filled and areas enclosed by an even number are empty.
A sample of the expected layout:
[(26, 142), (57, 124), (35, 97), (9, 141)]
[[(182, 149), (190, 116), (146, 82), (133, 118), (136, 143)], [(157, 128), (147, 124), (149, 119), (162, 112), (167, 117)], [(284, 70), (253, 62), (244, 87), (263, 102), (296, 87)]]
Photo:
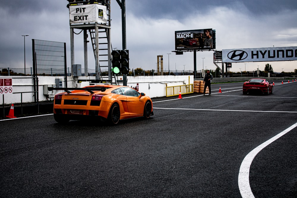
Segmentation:
[[(3, 96), (5, 104), (20, 103), (20, 102), (34, 102), (33, 93), (33, 78), (24, 76), (0, 76), (0, 78), (12, 78), (13, 93), (17, 92), (32, 92), (23, 94), (0, 94), (0, 104), (3, 104)], [(44, 94), (44, 85), (56, 85), (56, 78), (61, 78), (63, 87), (65, 87), (65, 80), (63, 76), (38, 76), (39, 85), (39, 101), (53, 100), (54, 94), (63, 91), (53, 91), (53, 95)], [(118, 76), (117, 80), (122, 80), (122, 76)], [(190, 80), (189, 80), (190, 79)], [(67, 76), (67, 87), (80, 87), (81, 83), (78, 80), (95, 80), (95, 76)], [(189, 82), (190, 81), (190, 82)], [(114, 79), (113, 79), (114, 82)], [(138, 83), (139, 92), (145, 93), (151, 98), (166, 96), (167, 86), (193, 84), (194, 76), (127, 76), (127, 86), (136, 87)], [(119, 83), (123, 85), (123, 83)]]

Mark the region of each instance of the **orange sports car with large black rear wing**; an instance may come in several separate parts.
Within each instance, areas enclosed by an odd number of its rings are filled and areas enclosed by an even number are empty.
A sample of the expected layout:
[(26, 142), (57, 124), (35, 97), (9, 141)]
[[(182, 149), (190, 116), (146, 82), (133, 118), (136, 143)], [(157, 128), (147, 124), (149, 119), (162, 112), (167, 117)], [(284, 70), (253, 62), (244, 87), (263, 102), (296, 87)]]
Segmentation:
[[(113, 125), (127, 118), (150, 118), (153, 103), (149, 96), (120, 85), (90, 85), (83, 88), (52, 88), (65, 90), (54, 99), (54, 118), (58, 123), (69, 120), (100, 118)], [(73, 91), (69, 91), (73, 90)]]

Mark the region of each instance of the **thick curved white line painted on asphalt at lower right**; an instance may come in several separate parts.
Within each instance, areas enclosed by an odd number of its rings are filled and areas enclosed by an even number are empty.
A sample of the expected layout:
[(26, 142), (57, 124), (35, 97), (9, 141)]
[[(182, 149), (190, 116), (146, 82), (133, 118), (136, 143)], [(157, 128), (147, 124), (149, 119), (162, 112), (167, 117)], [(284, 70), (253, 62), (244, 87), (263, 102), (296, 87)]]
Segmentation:
[(277, 134), (276, 136), (274, 136), (271, 139), (267, 140), (263, 144), (257, 146), (254, 150), (249, 152), (249, 154), (247, 154), (247, 156), (245, 156), (244, 160), (241, 163), (241, 166), (240, 166), (240, 169), (239, 169), (239, 174), (238, 174), (238, 187), (239, 187), (241, 197), (243, 197), (243, 198), (248, 198), (248, 197), (249, 198), (254, 198), (254, 194), (252, 193), (252, 189), (251, 189), (251, 187), (249, 185), (249, 168), (250, 168), (250, 166), (252, 164), (252, 161), (255, 158), (255, 156), (263, 148), (265, 148), (267, 145), (271, 144), (272, 142), (274, 142), (278, 138), (282, 137), (284, 134), (291, 131), (296, 126), (297, 126), (297, 123), (293, 124), (292, 126), (287, 128), (283, 132), (280, 132), (279, 134)]

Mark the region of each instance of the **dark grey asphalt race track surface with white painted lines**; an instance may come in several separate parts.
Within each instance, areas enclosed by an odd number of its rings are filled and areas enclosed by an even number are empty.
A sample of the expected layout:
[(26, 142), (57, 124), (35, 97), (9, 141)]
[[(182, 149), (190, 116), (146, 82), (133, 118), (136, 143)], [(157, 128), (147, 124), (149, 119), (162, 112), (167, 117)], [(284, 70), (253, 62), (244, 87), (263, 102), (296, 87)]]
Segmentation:
[(0, 197), (296, 197), (297, 82), (242, 84), (153, 99), (118, 126), (1, 120)]

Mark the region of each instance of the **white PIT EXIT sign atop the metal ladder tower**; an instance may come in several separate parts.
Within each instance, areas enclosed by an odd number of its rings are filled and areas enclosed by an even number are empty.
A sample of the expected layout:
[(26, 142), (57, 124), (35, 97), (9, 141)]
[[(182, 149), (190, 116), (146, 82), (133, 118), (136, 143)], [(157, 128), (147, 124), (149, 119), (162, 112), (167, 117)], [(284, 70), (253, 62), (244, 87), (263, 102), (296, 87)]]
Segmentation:
[(69, 21), (75, 23), (106, 23), (106, 6), (97, 1), (69, 3)]

